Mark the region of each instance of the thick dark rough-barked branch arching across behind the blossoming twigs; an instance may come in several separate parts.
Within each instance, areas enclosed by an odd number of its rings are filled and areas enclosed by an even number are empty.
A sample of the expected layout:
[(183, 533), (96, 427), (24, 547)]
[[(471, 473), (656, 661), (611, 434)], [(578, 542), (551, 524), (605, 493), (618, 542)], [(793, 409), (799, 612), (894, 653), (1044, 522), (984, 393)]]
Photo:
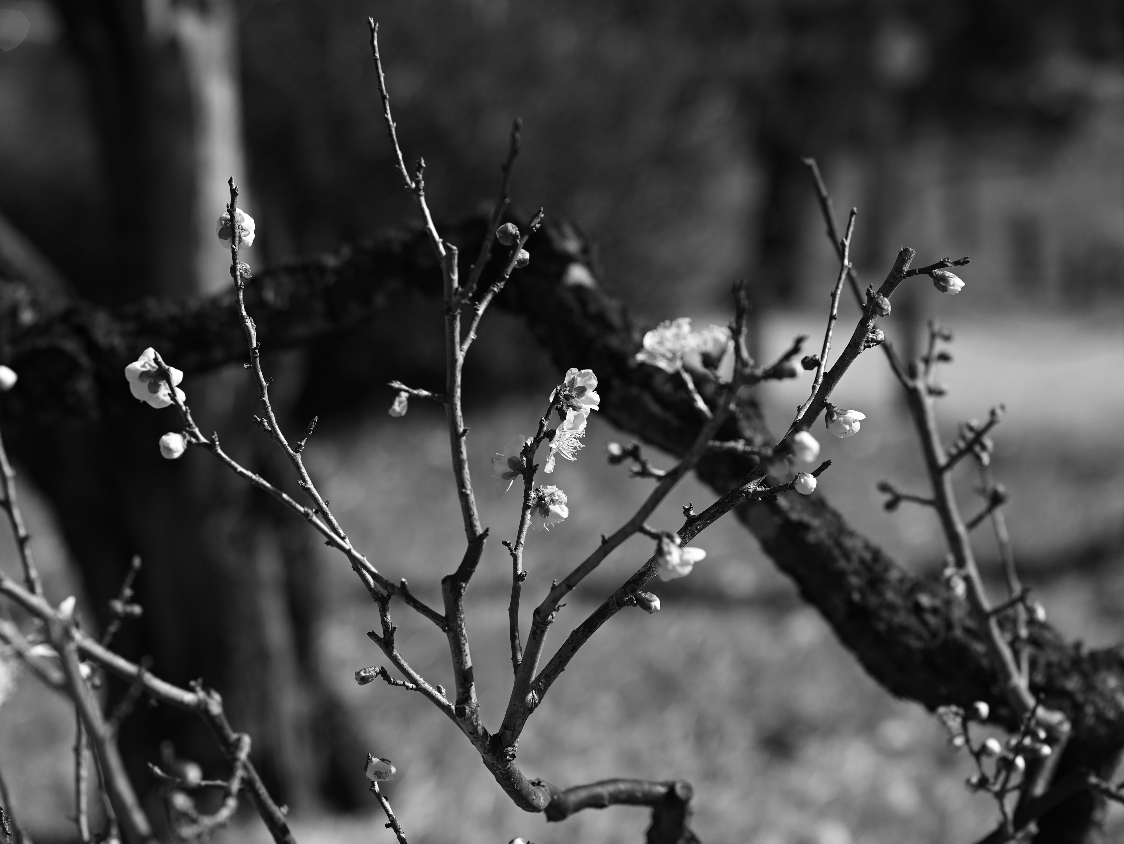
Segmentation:
[[(462, 255), (471, 255), (482, 224), (443, 232)], [(531, 265), (508, 283), (498, 305), (526, 320), (560, 367), (590, 366), (598, 373), (601, 412), (615, 425), (681, 453), (699, 424), (692, 400), (676, 379), (633, 363), (641, 329), (590, 281), (583, 238), (564, 224), (547, 226), (528, 248)], [(424, 236), (389, 233), (335, 256), (260, 274), (247, 289), (247, 308), (266, 348), (297, 346), (359, 325), (395, 292), (436, 296), (439, 278)], [(73, 302), (57, 317), (34, 320), (25, 309), (20, 324), (17, 303), (26, 300), (20, 285), (0, 285), (0, 360), (21, 373), (9, 405), (12, 421), (22, 428), (48, 419), (119, 417), (129, 401), (121, 367), (146, 345), (156, 344), (189, 373), (244, 355), (229, 293), (192, 305), (147, 301), (115, 311)], [(772, 442), (752, 399), (742, 402), (723, 435)], [(722, 453), (701, 462), (698, 473), (723, 492), (751, 466), (750, 459)], [(897, 565), (821, 494), (754, 503), (737, 517), (890, 693), (928, 708), (987, 700), (992, 719), (1014, 726), (982, 641), (942, 584)], [(1087, 766), (1109, 775), (1124, 747), (1124, 648), (1087, 650), (1044, 624), (1033, 624), (1031, 634), (1033, 690), (1073, 723), (1060, 774)], [(1103, 808), (1100, 800), (1080, 793), (1043, 817), (1035, 841), (1097, 841)]]

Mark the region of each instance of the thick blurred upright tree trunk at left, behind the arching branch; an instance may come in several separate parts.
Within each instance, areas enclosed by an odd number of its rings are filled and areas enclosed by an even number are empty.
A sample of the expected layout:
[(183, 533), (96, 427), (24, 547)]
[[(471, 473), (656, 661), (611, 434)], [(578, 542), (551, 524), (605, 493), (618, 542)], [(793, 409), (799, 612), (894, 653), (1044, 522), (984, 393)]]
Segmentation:
[[(226, 179), (246, 181), (232, 3), (58, 0), (58, 7), (90, 85), (118, 233), (117, 272), (76, 280), (80, 292), (118, 303), (221, 289), (229, 253), (219, 248), (215, 220), (228, 201)], [(299, 379), (292, 363), (287, 370)], [(281, 362), (273, 364), (277, 372)], [(198, 420), (223, 432), (228, 450), (273, 478), (287, 475), (275, 465), (275, 446), (248, 425), (256, 397), (241, 366), (187, 387)], [(291, 401), (279, 393), (277, 405), (283, 414)], [(173, 682), (200, 678), (217, 688), (235, 727), (254, 736), (255, 763), (281, 800), (307, 806), (324, 793), (354, 805), (361, 793), (348, 789), (355, 778), (343, 777), (342, 765), (361, 751), (348, 746), (347, 718), (312, 654), (320, 602), (307, 532), (278, 518), (215, 463), (161, 460), (156, 441), (174, 425), (170, 411), (130, 409), (92, 424), (25, 430), (21, 453), (57, 509), (99, 612), (130, 556), (144, 559), (145, 615), (126, 624), (126, 653), (151, 655), (154, 670)], [(209, 774), (223, 772), (194, 722), (142, 708), (121, 733), (138, 783), (163, 738)]]

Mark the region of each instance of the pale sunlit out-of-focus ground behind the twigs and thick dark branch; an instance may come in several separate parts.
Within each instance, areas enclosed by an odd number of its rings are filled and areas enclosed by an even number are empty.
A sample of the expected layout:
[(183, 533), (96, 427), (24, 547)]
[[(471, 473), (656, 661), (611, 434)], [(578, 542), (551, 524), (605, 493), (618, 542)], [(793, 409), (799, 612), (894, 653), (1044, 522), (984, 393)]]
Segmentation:
[[(818, 319), (776, 320), (765, 347), (783, 347), (794, 332), (813, 330)], [(958, 337), (958, 360), (944, 379), (952, 388), (942, 405), (946, 430), (954, 430), (958, 419), (985, 416), (997, 401), (1008, 407), (996, 435), (996, 474), (1013, 492), (1007, 514), (1016, 552), (1042, 560), (1044, 552), (1061, 553), (1082, 537), (1121, 528), (1124, 341), (1118, 319), (1028, 323), (1018, 317), (981, 324), (950, 314), (946, 321)], [(794, 384), (762, 391), (774, 429), (800, 392)], [(819, 436), (824, 456), (835, 461), (821, 490), (904, 564), (933, 565), (942, 551), (932, 515), (885, 514), (874, 491), (880, 478), (921, 489), (914, 441), (877, 353), (862, 359), (837, 398), (868, 418), (854, 438)], [(511, 435), (529, 433), (542, 403), (516, 402), (469, 418), (474, 479), (493, 537), (469, 593), (477, 678), (491, 727), (510, 682), (509, 562), (499, 539), (514, 533), (517, 499), (514, 492), (502, 499), (491, 494), (488, 457)], [(462, 542), (442, 418), (435, 408), (415, 402), (405, 419), (381, 417), (336, 434), (314, 439), (309, 450), (334, 510), (380, 570), (407, 577), (415, 591), (436, 603), (436, 581), (459, 557)], [(524, 629), (551, 579), (588, 553), (649, 489), (647, 482), (629, 481), (626, 472), (605, 464), (605, 443), (615, 436), (595, 417), (578, 463), (561, 465), (553, 478), (570, 497), (571, 517), (550, 534), (532, 537)], [(964, 509), (971, 512), (969, 487), (966, 480)], [(652, 523), (672, 527), (681, 505), (710, 499), (699, 484), (687, 482)], [(29, 502), (27, 515), (36, 551), (49, 569), (48, 593), (57, 600), (73, 591), (64, 551), (40, 505)], [(968, 762), (945, 748), (935, 720), (871, 682), (746, 532), (727, 519), (697, 544), (707, 548), (706, 561), (690, 578), (656, 588), (662, 610), (619, 614), (552, 689), (520, 741), (519, 761), (528, 775), (560, 786), (607, 777), (688, 779), (698, 796), (696, 829), (707, 842), (943, 844), (975, 840), (988, 828), (994, 811), (963, 788)], [(555, 645), (635, 570), (649, 545), (626, 545), (589, 579), (560, 615)], [(985, 559), (992, 553), (986, 534), (978, 548)], [(0, 553), (15, 559), (7, 548)], [(647, 814), (638, 809), (584, 811), (556, 825), (519, 811), (468, 742), (423, 699), (381, 682), (355, 686), (356, 669), (383, 662), (364, 635), (377, 626), (377, 615), (343, 560), (327, 550), (324, 571), (335, 606), (319, 632), (326, 673), (360, 714), (366, 734), (366, 745), (356, 747), (356, 775), (366, 751), (395, 761), (400, 775), (389, 793), (414, 844), (506, 842), (516, 835), (538, 844), (641, 840)], [(1044, 582), (1040, 597), (1068, 635), (1093, 645), (1122, 638), (1120, 565), (1093, 577), (1054, 571)], [(451, 684), (447, 648), (432, 625), (397, 605), (395, 621), (399, 647), (411, 664), (432, 682)], [(72, 730), (65, 707), (33, 680), (25, 680), (0, 709), (0, 765), (17, 807), (34, 804), (28, 819), (43, 841), (71, 835), (65, 816)], [(373, 815), (297, 817), (293, 824), (302, 842), (391, 841)], [(1124, 818), (1114, 815), (1113, 829), (1124, 832)], [(266, 838), (260, 823), (247, 818), (218, 840)]]

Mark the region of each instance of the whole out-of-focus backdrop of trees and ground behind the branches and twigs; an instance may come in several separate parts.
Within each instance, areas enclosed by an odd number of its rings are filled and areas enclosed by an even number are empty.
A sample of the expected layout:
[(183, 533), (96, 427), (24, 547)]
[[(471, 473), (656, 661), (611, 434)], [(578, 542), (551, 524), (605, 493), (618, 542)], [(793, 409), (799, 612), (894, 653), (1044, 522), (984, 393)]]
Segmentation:
[[(837, 267), (805, 155), (819, 160), (841, 219), (859, 208), (864, 276), (885, 274), (903, 245), (923, 263), (970, 255), (961, 296), (906, 288), (888, 334), (909, 348), (927, 318), (954, 330), (942, 415), (951, 434), (1007, 405), (997, 475), (1027, 580), (1068, 635), (1124, 637), (1124, 3), (0, 0), (0, 275), (49, 275), (109, 306), (219, 290), (228, 255), (214, 225), (232, 173), (257, 223), (255, 271), (413, 225), (369, 15), (402, 146), (425, 156), (438, 218), (489, 206), (522, 117), (515, 207), (544, 206), (588, 233), (605, 287), (652, 323), (725, 321), (745, 275), (763, 356), (822, 330)], [(373, 324), (270, 360), (290, 424), (320, 415), (310, 462), (345, 527), (430, 600), (460, 553), (447, 441), (428, 408), (388, 419), (384, 383), (438, 383), (439, 343), (436, 305), (402, 298)], [(531, 429), (556, 375), (500, 315), (474, 353), (479, 477)], [(774, 429), (807, 381), (761, 390)], [(284, 477), (247, 424), (241, 367), (185, 387), (205, 428)], [(881, 478), (915, 490), (923, 480), (895, 389), (878, 356), (849, 374), (837, 400), (868, 419), (860, 436), (824, 444), (836, 462), (821, 490), (904, 565), (934, 571), (931, 514), (891, 516), (874, 491)], [(140, 553), (146, 616), (123, 650), (224, 692), (301, 841), (389, 840), (359, 775), (368, 751), (402, 772), (391, 799), (411, 841), (640, 837), (640, 810), (550, 826), (524, 815), (438, 713), (381, 683), (355, 687), (352, 673), (380, 660), (354, 577), (203, 455), (160, 461), (171, 412), (123, 402), (98, 420), (3, 419), (48, 595), (79, 593), (97, 627)], [(646, 491), (604, 465), (614, 436), (595, 419), (581, 460), (560, 469), (573, 515), (534, 537), (532, 595)], [(661, 526), (687, 500), (708, 493), (685, 484)], [(484, 502), (493, 536), (515, 529), (515, 507)], [(991, 808), (964, 790), (966, 760), (933, 719), (865, 678), (737, 525), (704, 539), (706, 563), (662, 588), (663, 610), (618, 616), (552, 691), (520, 743), (528, 774), (563, 786), (683, 777), (705, 841), (979, 834)], [(989, 543), (980, 536), (985, 560)], [(489, 548), (470, 593), (489, 724), (507, 696), (505, 553)], [(646, 553), (628, 546), (591, 579), (558, 641)], [(15, 570), (12, 551), (0, 559)], [(402, 610), (396, 621), (415, 665), (447, 683), (444, 643)], [(37, 840), (73, 840), (73, 716), (8, 673), (0, 768)], [(208, 775), (225, 770), (197, 725), (142, 708), (121, 735), (142, 791), (164, 738)], [(247, 818), (227, 835), (262, 834)]]

